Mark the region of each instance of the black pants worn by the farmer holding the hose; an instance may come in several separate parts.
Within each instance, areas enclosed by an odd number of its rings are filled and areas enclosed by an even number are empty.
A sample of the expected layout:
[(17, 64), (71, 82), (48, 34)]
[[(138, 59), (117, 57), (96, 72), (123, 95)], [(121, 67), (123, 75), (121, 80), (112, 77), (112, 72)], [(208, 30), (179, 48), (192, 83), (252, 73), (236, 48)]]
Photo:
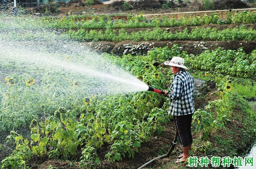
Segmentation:
[(191, 134), (192, 115), (173, 116), (178, 131), (178, 138), (183, 147), (187, 147), (193, 142)]

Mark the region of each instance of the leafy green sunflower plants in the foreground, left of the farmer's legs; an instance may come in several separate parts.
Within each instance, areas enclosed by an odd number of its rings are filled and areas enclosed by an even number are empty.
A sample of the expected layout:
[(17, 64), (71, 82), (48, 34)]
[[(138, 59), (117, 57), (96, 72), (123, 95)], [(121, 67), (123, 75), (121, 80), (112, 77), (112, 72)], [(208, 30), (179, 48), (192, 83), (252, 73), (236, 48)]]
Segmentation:
[[(133, 102), (142, 107), (127, 105)], [(31, 140), (15, 137), (21, 142), (16, 149), (21, 151), (21, 147), (26, 146), (27, 152), (38, 157), (70, 158), (76, 157), (81, 146), (81, 165), (89, 168), (94, 162), (99, 162), (96, 150), (104, 142), (111, 143), (111, 151), (106, 155), (109, 160), (121, 160), (126, 155), (134, 157), (140, 143), (149, 140), (155, 131), (160, 134), (164, 130), (161, 124), (168, 122), (164, 110), (154, 108), (155, 105), (159, 106), (159, 102), (154, 94), (106, 97), (86, 105), (83, 110), (86, 113), (81, 114), (79, 121), (73, 111), (59, 108), (42, 122), (32, 120)]]

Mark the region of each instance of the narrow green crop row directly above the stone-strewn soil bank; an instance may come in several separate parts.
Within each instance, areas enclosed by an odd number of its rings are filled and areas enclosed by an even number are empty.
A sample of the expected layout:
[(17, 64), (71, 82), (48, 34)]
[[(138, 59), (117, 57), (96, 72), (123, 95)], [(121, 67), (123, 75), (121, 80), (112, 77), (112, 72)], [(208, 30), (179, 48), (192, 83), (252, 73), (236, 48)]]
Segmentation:
[(85, 30), (78, 31), (70, 30), (67, 33), (72, 39), (85, 41), (117, 41), (123, 40), (256, 40), (256, 30), (242, 25), (232, 29), (224, 29), (218, 31), (216, 28), (194, 28), (190, 32), (185, 28), (183, 31), (176, 31), (175, 33), (163, 30), (161, 28), (154, 28), (154, 30), (138, 31), (128, 33), (125, 29), (119, 31), (107, 29), (106, 31)]

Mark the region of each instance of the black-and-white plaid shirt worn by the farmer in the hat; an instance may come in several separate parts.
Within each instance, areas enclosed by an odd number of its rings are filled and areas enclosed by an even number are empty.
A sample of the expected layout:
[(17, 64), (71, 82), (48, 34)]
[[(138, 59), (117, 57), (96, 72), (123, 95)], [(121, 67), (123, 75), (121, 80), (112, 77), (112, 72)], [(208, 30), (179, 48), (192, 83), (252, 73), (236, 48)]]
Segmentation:
[(168, 96), (170, 107), (168, 114), (188, 115), (194, 113), (194, 78), (186, 70), (180, 70), (173, 77)]

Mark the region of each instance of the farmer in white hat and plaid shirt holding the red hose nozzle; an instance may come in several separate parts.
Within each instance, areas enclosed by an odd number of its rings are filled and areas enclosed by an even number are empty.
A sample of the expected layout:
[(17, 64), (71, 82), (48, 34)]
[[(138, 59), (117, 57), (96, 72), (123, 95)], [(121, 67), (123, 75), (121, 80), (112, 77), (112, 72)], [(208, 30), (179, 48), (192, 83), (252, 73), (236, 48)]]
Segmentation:
[[(185, 162), (189, 157), (189, 150), (192, 146), (191, 123), (194, 113), (194, 78), (184, 66), (184, 59), (181, 57), (173, 57), (171, 61), (165, 61), (165, 65), (171, 66), (174, 75), (170, 91), (158, 92), (164, 96), (170, 97), (170, 107), (168, 114), (173, 115), (178, 138), (182, 145), (183, 154), (178, 156), (178, 162)], [(149, 87), (149, 91), (155, 91)]]

